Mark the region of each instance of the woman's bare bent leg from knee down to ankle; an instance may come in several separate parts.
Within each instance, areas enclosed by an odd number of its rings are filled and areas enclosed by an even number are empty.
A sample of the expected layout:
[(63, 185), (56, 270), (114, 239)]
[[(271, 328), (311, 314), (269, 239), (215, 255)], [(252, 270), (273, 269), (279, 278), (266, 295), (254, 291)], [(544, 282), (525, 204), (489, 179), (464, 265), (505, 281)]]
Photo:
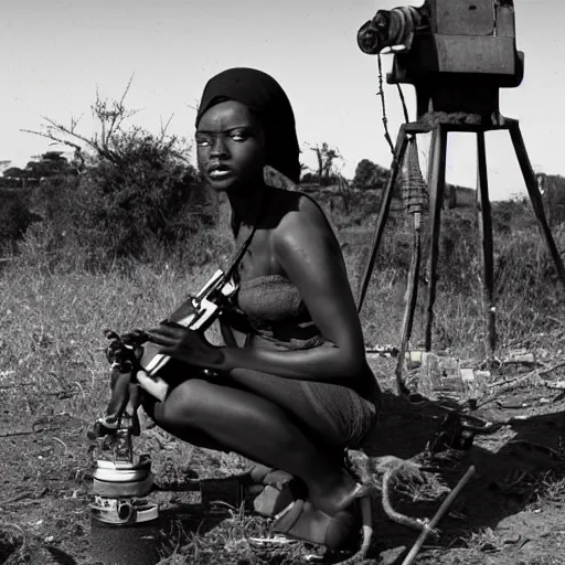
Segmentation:
[(246, 391), (191, 379), (151, 412), (158, 425), (185, 441), (222, 446), (299, 477), (312, 504), (329, 514), (341, 510), (355, 487), (330, 449), (312, 440), (288, 412)]

